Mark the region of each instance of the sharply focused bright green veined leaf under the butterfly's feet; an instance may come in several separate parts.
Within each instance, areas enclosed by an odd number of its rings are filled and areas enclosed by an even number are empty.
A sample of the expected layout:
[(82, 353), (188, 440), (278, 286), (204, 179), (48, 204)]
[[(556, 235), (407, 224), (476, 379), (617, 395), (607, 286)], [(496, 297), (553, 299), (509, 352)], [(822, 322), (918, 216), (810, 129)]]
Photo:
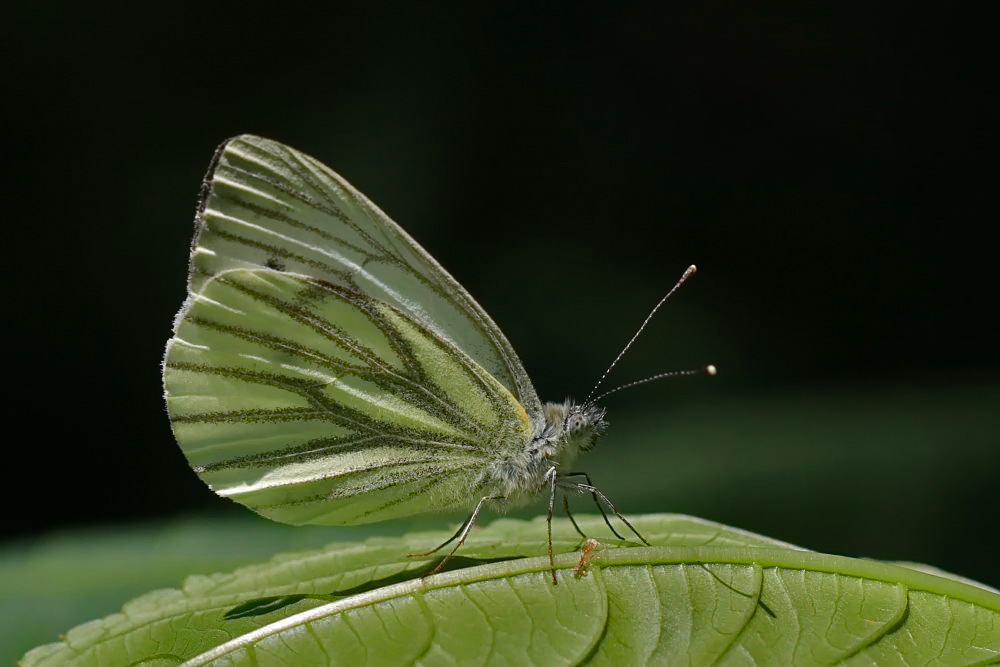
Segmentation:
[[(583, 517), (590, 535), (608, 534)], [(407, 558), (448, 533), (286, 554), (189, 577), (39, 647), (74, 664), (989, 664), (1000, 594), (911, 567), (818, 554), (676, 515), (638, 517), (655, 545), (581, 539), (557, 521), (496, 521), (421, 578)], [(459, 563), (468, 565), (470, 561)], [(579, 572), (575, 574), (574, 570)], [(227, 619), (227, 615), (229, 618)]]

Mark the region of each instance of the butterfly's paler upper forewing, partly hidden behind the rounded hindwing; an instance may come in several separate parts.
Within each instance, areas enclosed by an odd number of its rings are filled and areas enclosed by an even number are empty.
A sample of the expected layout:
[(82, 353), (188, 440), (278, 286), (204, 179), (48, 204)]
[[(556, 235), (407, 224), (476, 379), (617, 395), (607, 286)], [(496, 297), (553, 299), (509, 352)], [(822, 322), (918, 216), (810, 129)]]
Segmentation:
[(234, 268), (272, 267), (396, 307), (475, 359), (531, 415), (541, 404), (513, 347), (465, 289), (347, 181), (283, 144), (243, 135), (205, 179), (190, 291)]

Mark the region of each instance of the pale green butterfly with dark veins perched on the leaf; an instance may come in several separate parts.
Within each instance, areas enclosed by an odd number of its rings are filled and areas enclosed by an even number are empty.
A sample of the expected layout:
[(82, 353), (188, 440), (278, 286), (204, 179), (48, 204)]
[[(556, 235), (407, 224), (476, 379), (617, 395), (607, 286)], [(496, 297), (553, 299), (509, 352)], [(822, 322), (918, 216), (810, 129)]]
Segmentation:
[(447, 560), (485, 502), (548, 488), (551, 557), (557, 487), (615, 511), (589, 478), (570, 479), (604, 409), (543, 405), (454, 278), (344, 179), (275, 141), (241, 136), (215, 154), (163, 376), (194, 470), (276, 521), (472, 510)]

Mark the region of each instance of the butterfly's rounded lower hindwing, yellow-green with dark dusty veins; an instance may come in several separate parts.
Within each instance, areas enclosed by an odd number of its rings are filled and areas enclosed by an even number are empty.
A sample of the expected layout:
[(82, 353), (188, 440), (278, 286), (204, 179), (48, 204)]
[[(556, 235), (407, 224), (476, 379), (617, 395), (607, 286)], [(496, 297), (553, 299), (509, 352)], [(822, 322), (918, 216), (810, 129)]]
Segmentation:
[(491, 373), (398, 309), (271, 269), (199, 284), (164, 362), (167, 408), (218, 494), (286, 523), (468, 507), (531, 438)]

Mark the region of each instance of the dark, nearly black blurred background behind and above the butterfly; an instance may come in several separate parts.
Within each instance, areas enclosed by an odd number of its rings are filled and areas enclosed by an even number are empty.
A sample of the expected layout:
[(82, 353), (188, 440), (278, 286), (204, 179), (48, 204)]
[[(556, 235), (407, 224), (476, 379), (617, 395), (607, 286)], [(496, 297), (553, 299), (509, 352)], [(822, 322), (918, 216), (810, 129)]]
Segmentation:
[(981, 17), (800, 2), (15, 17), (11, 536), (248, 514), (188, 469), (159, 364), (200, 179), (219, 142), (253, 132), (410, 231), (543, 398), (585, 395), (699, 265), (614, 380), (706, 362), (719, 377), (609, 399), (613, 430), (581, 461), (628, 511), (1000, 583)]

